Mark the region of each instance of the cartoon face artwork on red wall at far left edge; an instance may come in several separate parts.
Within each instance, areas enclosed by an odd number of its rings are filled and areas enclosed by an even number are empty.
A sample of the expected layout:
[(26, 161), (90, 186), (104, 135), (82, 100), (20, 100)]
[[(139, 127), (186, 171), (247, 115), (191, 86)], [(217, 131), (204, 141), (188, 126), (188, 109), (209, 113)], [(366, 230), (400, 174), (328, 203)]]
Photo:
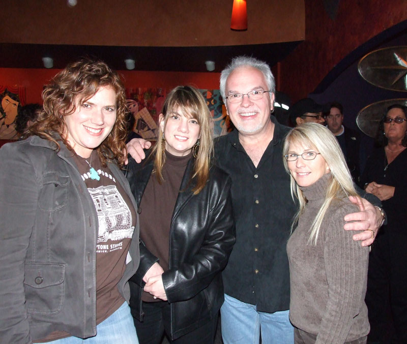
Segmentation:
[(0, 140), (18, 139), (15, 118), (24, 103), (24, 87), (0, 85)]

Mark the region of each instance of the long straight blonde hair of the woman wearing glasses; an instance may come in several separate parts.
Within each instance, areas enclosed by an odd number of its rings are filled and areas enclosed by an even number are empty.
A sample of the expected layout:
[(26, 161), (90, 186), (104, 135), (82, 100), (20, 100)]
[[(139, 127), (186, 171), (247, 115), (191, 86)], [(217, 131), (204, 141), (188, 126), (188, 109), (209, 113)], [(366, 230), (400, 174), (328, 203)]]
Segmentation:
[[(316, 244), (319, 229), (321, 228), (324, 216), (332, 201), (343, 197), (340, 195), (341, 191), (343, 191), (346, 196), (359, 196), (353, 185), (351, 173), (347, 168), (342, 149), (329, 129), (317, 123), (301, 124), (301, 126), (292, 129), (286, 135), (283, 146), (283, 155), (288, 153), (290, 144), (300, 144), (315, 149), (317, 152), (321, 153), (321, 157), (325, 160), (331, 170), (332, 178), (328, 185), (324, 202), (312, 222), (311, 233), (308, 239), (308, 243)], [(287, 161), (284, 157), (283, 162), (285, 170), (290, 173)], [(291, 174), (290, 181), (291, 195), (293, 199), (295, 197), (298, 198), (300, 203), (300, 208), (294, 218), (292, 226), (293, 230), (295, 224), (298, 223), (299, 216), (304, 211), (307, 200)]]

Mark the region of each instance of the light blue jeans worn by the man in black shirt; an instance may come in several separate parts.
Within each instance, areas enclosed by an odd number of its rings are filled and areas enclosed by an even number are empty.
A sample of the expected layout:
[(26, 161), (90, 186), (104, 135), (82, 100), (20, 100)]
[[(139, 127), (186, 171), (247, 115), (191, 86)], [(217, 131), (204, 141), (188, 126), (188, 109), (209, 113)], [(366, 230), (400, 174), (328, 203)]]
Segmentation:
[(288, 310), (274, 313), (260, 312), (256, 306), (225, 294), (220, 308), (224, 344), (293, 344), (294, 327), (288, 319)]

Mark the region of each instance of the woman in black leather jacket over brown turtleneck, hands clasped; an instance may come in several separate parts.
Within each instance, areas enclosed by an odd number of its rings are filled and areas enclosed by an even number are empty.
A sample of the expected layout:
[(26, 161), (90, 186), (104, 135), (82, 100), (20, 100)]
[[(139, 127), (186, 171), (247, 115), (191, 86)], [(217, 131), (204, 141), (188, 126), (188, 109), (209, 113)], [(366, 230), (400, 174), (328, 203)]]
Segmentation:
[(130, 307), (140, 343), (213, 343), (221, 271), (235, 243), (230, 177), (211, 165), (212, 120), (189, 86), (167, 96), (158, 142), (127, 179), (140, 214), (140, 266)]

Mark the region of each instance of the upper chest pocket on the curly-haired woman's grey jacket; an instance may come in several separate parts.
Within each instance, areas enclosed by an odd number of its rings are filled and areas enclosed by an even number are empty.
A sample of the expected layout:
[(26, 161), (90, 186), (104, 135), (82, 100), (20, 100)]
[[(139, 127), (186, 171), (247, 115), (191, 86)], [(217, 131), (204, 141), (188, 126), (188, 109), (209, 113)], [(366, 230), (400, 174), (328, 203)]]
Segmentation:
[(44, 211), (60, 210), (67, 204), (69, 176), (57, 172), (46, 172), (43, 175), (43, 186), (38, 205)]

